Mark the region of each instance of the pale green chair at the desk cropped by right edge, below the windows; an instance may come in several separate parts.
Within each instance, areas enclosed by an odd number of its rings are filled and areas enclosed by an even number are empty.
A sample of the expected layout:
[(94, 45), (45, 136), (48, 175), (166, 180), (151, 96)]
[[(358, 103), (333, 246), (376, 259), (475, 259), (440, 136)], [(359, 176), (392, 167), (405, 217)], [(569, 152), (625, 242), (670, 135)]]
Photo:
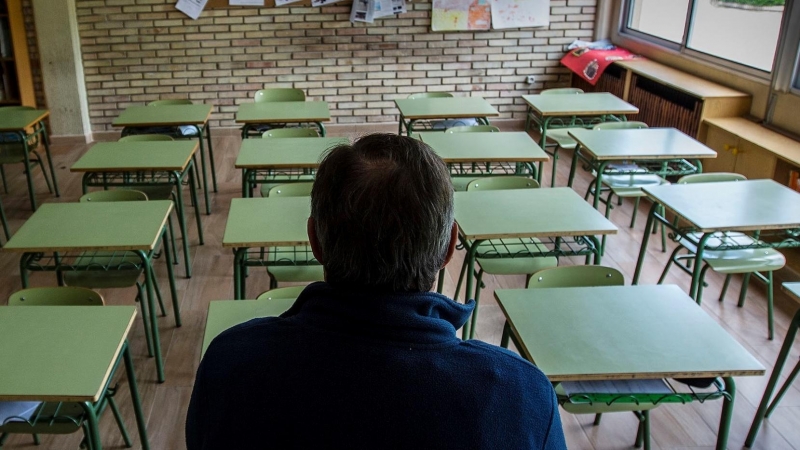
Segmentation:
[[(744, 175), (738, 173), (701, 173), (687, 175), (679, 179), (678, 184), (736, 182), (746, 179)], [(724, 187), (721, 187), (721, 189), (724, 189)], [(664, 281), (673, 263), (684, 272), (690, 275), (692, 274), (691, 268), (688, 267), (688, 265), (681, 264), (680, 261), (691, 261), (694, 259), (697, 253), (697, 242), (699, 242), (701, 237), (702, 233), (693, 233), (689, 235), (688, 238), (678, 241), (678, 247), (672, 252), (672, 255), (670, 255), (670, 259), (666, 267), (664, 267), (664, 271), (661, 273), (661, 278), (658, 280), (659, 284)], [(756, 240), (757, 237), (754, 238), (738, 232), (717, 233), (717, 235), (708, 240), (706, 243), (706, 250), (703, 251), (703, 263), (705, 265), (700, 270), (697, 304), (700, 304), (703, 298), (703, 280), (705, 279), (708, 269), (725, 274), (725, 283), (722, 285), (719, 301), (724, 300), (732, 275), (744, 274), (742, 289), (739, 292), (738, 306), (740, 308), (744, 306), (744, 302), (747, 299), (747, 287), (750, 284), (750, 277), (755, 275), (756, 278), (767, 285), (767, 326), (769, 329), (768, 337), (771, 340), (775, 334), (773, 324), (773, 272), (782, 269), (783, 266), (786, 265), (786, 258), (781, 252), (773, 248), (713, 250), (714, 247), (724, 245), (726, 242), (735, 243), (736, 245), (747, 245), (748, 243), (755, 243)], [(687, 253), (678, 255), (681, 250), (686, 250)], [(766, 273), (766, 275), (763, 273)]]

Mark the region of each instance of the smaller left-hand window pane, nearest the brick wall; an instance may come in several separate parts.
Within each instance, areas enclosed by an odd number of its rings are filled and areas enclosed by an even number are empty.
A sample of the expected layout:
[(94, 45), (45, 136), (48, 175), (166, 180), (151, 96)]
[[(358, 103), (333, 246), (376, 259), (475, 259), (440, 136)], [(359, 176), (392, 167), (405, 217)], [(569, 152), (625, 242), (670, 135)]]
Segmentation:
[(628, 28), (680, 44), (689, 1), (633, 0), (628, 10)]

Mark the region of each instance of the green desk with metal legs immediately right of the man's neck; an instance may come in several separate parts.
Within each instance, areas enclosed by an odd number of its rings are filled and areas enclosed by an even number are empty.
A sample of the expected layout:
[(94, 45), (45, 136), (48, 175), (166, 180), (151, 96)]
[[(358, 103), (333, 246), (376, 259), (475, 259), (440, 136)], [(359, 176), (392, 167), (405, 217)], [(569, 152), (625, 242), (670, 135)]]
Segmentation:
[[(472, 294), (478, 258), (504, 257), (508, 253), (505, 248), (515, 246), (528, 249), (515, 252), (516, 257), (585, 255), (589, 264), (594, 255), (594, 263), (600, 264), (597, 236), (617, 232), (613, 223), (566, 187), (456, 192), (455, 220), (467, 252), (467, 296)], [(547, 251), (530, 252), (530, 238), (539, 239)], [(498, 244), (503, 248), (481, 248), (491, 239), (503, 239), (502, 245)], [(475, 292), (478, 289), (480, 286)], [(464, 326), (465, 336), (475, 334), (477, 316), (476, 304), (471, 323)]]

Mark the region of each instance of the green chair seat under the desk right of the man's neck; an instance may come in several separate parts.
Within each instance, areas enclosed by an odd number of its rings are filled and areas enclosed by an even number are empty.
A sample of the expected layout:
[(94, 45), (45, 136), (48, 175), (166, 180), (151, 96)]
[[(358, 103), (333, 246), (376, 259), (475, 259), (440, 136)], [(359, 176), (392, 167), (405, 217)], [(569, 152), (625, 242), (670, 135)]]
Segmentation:
[(477, 258), (477, 261), (481, 269), (491, 275), (532, 274), (558, 266), (554, 256), (527, 256), (547, 251), (538, 239), (491, 239), (478, 245), (478, 254), (495, 253), (503, 257)]

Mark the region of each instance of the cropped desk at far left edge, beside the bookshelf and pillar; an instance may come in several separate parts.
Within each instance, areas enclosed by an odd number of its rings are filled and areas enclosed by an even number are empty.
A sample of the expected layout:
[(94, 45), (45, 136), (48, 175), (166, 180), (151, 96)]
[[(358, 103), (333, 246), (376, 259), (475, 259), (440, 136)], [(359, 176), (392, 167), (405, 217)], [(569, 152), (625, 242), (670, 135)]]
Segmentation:
[[(28, 146), (32, 141), (36, 140), (37, 136), (41, 136), (42, 144), (44, 144), (44, 151), (47, 155), (47, 163), (50, 166), (50, 177), (53, 179), (53, 188), (56, 197), (61, 196), (58, 192), (56, 171), (53, 168), (53, 156), (50, 154), (50, 141), (47, 137), (47, 127), (44, 125), (44, 119), (49, 115), (50, 111), (46, 109), (14, 109), (10, 111), (0, 109), (0, 133), (13, 134), (22, 143), (25, 171), (28, 179), (28, 196), (31, 201), (31, 209), (34, 211), (36, 211), (36, 193), (33, 189), (33, 175), (30, 170), (31, 149)], [(0, 169), (2, 169), (2, 166), (0, 166)], [(43, 173), (42, 175), (44, 175), (44, 180), (47, 182), (47, 187), (49, 188), (50, 182), (47, 179), (47, 174)], [(5, 174), (3, 174), (4, 185), (5, 182)]]

